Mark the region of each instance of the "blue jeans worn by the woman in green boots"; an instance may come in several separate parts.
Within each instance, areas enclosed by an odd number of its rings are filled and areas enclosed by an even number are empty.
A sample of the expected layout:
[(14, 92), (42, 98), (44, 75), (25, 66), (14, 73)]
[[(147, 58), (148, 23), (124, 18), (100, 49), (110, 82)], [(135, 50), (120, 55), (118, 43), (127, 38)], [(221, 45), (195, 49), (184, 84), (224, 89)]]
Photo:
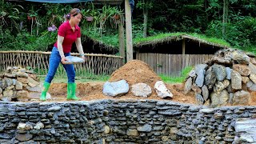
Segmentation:
[[(65, 57), (70, 56), (70, 53), (64, 53)], [(54, 46), (53, 50), (51, 51), (50, 54), (50, 63), (49, 63), (49, 70), (48, 74), (46, 75), (46, 80), (45, 82), (50, 83), (54, 75), (58, 69), (58, 65), (61, 62), (62, 58), (58, 52), (58, 48)], [(75, 77), (75, 71), (74, 71), (74, 65), (73, 64), (67, 64), (63, 65), (64, 69), (66, 70), (68, 82), (74, 82), (74, 77)]]

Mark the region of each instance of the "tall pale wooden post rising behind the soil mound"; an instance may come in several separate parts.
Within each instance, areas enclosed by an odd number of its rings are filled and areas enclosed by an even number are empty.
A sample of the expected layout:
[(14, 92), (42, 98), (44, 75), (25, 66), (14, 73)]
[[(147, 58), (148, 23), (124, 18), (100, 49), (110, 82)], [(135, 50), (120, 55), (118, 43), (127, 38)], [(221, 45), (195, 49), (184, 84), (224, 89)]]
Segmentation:
[(127, 62), (129, 62), (133, 60), (133, 51), (134, 51), (129, 0), (125, 0), (125, 8), (126, 8), (126, 58), (127, 58)]

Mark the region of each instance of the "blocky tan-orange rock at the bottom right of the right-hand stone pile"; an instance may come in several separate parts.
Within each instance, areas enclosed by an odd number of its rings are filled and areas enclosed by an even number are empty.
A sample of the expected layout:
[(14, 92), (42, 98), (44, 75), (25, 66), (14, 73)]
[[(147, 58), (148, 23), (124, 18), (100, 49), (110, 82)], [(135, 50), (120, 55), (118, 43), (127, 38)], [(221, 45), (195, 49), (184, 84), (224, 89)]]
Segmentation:
[(234, 93), (233, 105), (248, 105), (250, 102), (250, 93), (241, 90)]

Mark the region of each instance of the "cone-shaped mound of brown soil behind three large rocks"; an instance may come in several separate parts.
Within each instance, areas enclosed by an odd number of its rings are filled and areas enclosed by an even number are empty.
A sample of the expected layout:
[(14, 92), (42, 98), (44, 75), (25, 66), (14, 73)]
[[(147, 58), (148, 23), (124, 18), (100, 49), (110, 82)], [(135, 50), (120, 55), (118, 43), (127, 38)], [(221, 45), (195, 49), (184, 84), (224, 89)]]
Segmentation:
[(109, 81), (116, 82), (122, 79), (126, 80), (129, 86), (143, 82), (151, 88), (154, 88), (155, 82), (161, 81), (158, 74), (156, 74), (148, 64), (140, 60), (132, 60), (118, 70), (115, 70), (114, 73), (111, 74)]

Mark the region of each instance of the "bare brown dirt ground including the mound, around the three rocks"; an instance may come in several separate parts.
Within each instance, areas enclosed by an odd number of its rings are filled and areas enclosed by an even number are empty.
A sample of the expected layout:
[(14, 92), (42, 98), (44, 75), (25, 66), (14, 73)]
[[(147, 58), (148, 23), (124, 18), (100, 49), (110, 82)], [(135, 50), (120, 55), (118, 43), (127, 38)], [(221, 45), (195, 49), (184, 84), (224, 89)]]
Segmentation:
[[(196, 104), (194, 93), (191, 91), (188, 94), (183, 94), (183, 84), (166, 84), (166, 87), (174, 94), (174, 98), (159, 98), (154, 90), (154, 83), (161, 80), (158, 74), (154, 72), (145, 62), (132, 60), (126, 65), (114, 71), (110, 76), (110, 82), (116, 82), (125, 79), (130, 88), (138, 82), (143, 82), (151, 87), (152, 94), (148, 98), (134, 96), (130, 90), (128, 94), (120, 97), (110, 97), (102, 93), (104, 82), (82, 82), (78, 83), (76, 95), (82, 101), (100, 100), (100, 99), (155, 99), (155, 100), (171, 100), (174, 102)], [(52, 83), (49, 93), (51, 94), (50, 102), (65, 102), (66, 101), (66, 83)], [(250, 106), (256, 106), (256, 92), (251, 93)]]

